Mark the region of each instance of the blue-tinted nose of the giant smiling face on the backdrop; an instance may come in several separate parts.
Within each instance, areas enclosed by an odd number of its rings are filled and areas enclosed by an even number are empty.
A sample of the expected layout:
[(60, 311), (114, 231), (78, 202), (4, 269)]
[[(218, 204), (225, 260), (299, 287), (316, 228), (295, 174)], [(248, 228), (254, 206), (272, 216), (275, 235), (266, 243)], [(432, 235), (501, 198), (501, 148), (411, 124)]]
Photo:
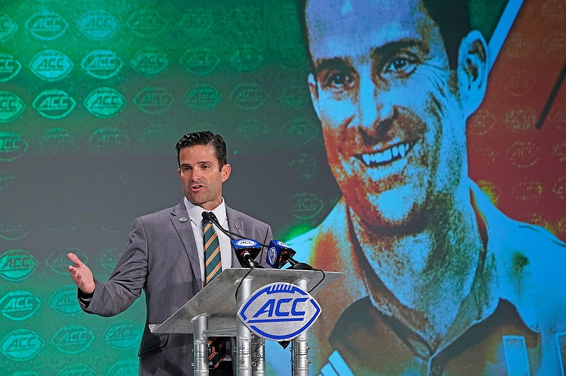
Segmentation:
[(393, 117), (391, 90), (386, 83), (366, 77), (360, 80), (357, 98), (357, 126), (378, 138), (388, 130)]

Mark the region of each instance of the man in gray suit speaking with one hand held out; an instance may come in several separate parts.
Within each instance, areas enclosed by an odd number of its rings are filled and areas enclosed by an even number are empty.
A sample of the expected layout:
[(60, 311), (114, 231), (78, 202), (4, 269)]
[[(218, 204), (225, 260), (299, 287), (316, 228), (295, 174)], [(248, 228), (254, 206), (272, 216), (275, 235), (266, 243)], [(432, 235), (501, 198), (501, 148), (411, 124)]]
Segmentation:
[[(117, 315), (146, 296), (146, 325), (139, 346), (140, 375), (192, 375), (192, 334), (151, 334), (149, 323), (171, 317), (202, 290), (204, 252), (202, 212), (212, 211), (224, 228), (266, 243), (270, 225), (226, 206), (222, 183), (231, 172), (226, 143), (210, 131), (186, 134), (176, 145), (178, 174), (185, 197), (177, 206), (136, 218), (126, 250), (107, 282), (93, 278), (86, 264), (69, 253), (69, 272), (79, 286), (83, 310), (103, 317)], [(222, 269), (241, 267), (229, 238), (219, 237)], [(265, 263), (265, 249), (258, 256)], [(230, 297), (227, 297), (230, 298)], [(231, 375), (230, 353), (211, 375)], [(231, 354), (233, 356), (233, 354)]]

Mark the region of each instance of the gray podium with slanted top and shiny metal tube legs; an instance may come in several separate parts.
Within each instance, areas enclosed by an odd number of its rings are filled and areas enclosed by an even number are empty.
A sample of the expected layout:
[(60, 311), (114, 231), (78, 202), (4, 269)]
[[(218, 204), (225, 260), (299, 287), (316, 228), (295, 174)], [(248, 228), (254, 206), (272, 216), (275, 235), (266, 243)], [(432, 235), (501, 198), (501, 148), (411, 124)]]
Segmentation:
[[(270, 283), (292, 283), (312, 295), (342, 273), (296, 269), (226, 269), (204, 286), (162, 324), (149, 324), (152, 333), (193, 334), (195, 375), (208, 375), (209, 336), (236, 337), (238, 376), (265, 375), (263, 339), (252, 336), (238, 310), (252, 293)], [(310, 291), (316, 286), (315, 290)], [(293, 375), (308, 375), (308, 340), (304, 331), (291, 341)]]

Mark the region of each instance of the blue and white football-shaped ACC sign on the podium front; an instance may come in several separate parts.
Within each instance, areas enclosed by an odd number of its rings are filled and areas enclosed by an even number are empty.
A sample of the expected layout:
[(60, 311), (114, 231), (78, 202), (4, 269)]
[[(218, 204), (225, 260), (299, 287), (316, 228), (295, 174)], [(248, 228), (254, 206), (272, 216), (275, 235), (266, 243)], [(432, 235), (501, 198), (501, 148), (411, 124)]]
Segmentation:
[(265, 339), (289, 341), (308, 329), (320, 315), (320, 305), (291, 283), (270, 283), (243, 302), (238, 317)]

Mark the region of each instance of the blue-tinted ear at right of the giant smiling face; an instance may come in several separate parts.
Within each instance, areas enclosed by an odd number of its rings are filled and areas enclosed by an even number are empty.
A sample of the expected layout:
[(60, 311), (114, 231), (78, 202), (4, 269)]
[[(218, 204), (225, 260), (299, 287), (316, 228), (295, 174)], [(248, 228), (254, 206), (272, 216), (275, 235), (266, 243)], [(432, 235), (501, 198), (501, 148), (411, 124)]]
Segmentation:
[(458, 49), (458, 89), (466, 117), (478, 110), (490, 73), (487, 62), (487, 43), (478, 30), (463, 37)]

